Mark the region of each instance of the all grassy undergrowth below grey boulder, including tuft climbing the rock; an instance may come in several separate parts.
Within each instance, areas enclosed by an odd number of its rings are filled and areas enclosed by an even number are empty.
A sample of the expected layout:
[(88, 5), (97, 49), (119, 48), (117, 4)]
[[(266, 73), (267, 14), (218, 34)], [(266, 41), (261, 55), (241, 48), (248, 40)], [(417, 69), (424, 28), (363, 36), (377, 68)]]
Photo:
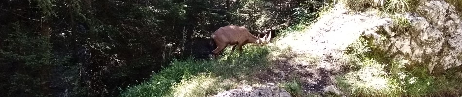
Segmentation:
[(425, 65), (388, 59), (373, 53), (368, 41), (359, 39), (350, 45), (348, 55), (352, 71), (337, 76), (336, 82), (349, 97), (454, 97), (461, 95), (462, 79), (447, 72), (431, 75)]

